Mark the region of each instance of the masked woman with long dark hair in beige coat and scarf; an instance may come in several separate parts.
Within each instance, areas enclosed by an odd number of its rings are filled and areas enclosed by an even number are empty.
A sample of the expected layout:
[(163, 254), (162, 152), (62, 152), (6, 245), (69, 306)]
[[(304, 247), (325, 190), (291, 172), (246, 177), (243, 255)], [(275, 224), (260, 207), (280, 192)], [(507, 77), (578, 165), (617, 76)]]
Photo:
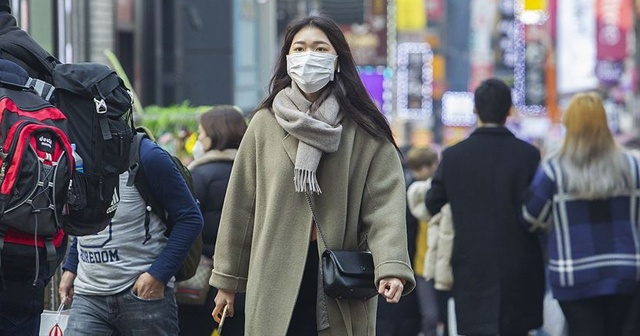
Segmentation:
[(319, 255), (369, 249), (380, 295), (395, 303), (413, 290), (399, 155), (338, 25), (290, 24), (231, 174), (209, 281), (214, 319), (225, 306), (233, 316), (246, 292), (247, 335), (374, 334), (377, 299), (326, 296)]

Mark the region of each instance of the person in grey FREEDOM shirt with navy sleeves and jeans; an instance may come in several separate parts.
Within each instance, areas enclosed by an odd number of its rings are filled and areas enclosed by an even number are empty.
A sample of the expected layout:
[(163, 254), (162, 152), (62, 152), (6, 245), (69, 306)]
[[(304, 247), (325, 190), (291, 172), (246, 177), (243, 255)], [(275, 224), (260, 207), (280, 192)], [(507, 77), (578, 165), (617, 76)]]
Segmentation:
[(120, 205), (111, 223), (75, 237), (63, 265), (58, 293), (72, 303), (67, 336), (178, 335), (174, 276), (202, 231), (202, 215), (169, 153), (148, 138), (140, 142), (140, 164), (175, 225), (165, 236), (162, 219), (147, 214), (135, 185), (127, 185), (129, 172), (120, 175)]

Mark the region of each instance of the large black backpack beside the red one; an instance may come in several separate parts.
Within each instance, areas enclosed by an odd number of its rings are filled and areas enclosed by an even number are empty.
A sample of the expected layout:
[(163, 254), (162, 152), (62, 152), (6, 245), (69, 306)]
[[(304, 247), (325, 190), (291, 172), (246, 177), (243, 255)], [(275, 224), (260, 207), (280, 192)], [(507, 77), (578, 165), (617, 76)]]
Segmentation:
[(74, 236), (101, 231), (115, 215), (118, 176), (128, 168), (134, 133), (129, 89), (106, 65), (61, 64), (21, 30), (2, 36), (0, 53), (20, 61), (35, 76), (29, 85), (68, 117), (69, 140), (76, 144), (84, 169), (74, 175), (65, 231)]

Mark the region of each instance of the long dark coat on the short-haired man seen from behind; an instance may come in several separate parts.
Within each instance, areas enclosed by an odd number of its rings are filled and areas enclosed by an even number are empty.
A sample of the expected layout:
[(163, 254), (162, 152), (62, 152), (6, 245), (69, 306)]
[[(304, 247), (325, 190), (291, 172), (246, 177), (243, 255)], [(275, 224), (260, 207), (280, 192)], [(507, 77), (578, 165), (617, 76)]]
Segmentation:
[(478, 128), (442, 154), (426, 205), (435, 214), (451, 204), (460, 334), (522, 333), (542, 325), (542, 250), (521, 215), (539, 162), (539, 151), (505, 127)]

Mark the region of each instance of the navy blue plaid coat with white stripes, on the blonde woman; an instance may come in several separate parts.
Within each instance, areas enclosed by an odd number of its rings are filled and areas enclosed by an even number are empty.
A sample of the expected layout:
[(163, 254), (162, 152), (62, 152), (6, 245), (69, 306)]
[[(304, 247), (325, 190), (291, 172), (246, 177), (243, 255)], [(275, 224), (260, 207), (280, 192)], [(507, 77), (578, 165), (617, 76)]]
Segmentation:
[(556, 160), (540, 165), (524, 215), (530, 228), (547, 229), (549, 282), (559, 301), (631, 294), (640, 283), (640, 170), (627, 154), (633, 188), (607, 199), (566, 192)]

